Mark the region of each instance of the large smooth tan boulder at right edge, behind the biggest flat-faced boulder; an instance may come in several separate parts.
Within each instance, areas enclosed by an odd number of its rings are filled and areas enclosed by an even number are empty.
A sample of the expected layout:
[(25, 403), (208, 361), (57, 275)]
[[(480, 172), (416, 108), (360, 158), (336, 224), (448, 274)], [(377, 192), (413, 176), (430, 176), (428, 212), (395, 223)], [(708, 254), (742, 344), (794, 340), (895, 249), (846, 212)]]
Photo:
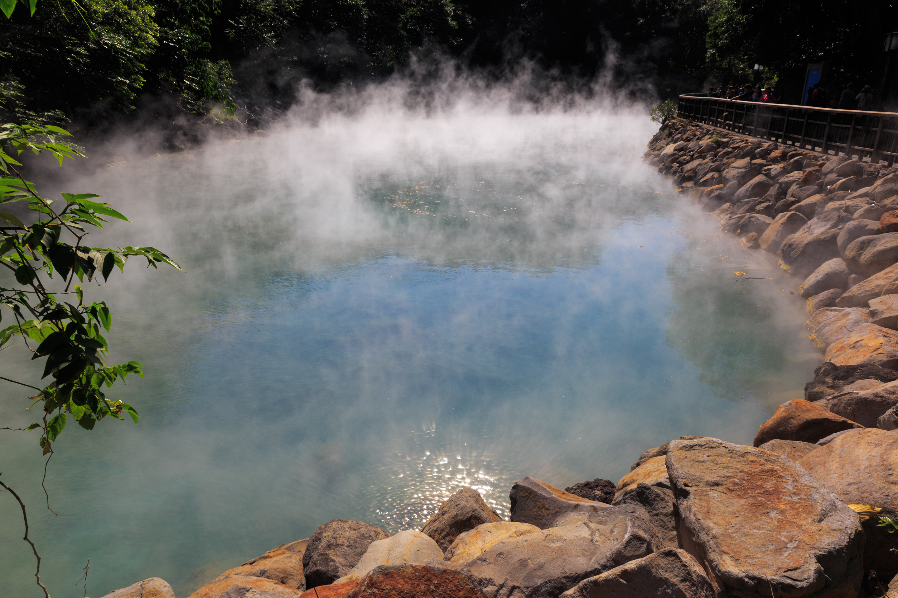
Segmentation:
[[(898, 434), (883, 429), (859, 429), (834, 438), (798, 462), (827, 490), (846, 503), (872, 505), (880, 515), (898, 517)], [(898, 533), (877, 527), (876, 517), (864, 522), (867, 547), (864, 568), (894, 571)]]

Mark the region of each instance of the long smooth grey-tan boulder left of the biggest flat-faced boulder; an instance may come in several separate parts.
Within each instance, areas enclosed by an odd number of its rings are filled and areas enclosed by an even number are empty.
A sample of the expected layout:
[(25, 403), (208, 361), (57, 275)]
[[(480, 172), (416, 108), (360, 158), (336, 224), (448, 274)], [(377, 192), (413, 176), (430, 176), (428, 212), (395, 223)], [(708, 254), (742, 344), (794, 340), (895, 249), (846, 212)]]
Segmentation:
[(658, 548), (641, 508), (569, 512), (579, 523), (498, 543), (462, 568), (488, 598), (550, 598)]

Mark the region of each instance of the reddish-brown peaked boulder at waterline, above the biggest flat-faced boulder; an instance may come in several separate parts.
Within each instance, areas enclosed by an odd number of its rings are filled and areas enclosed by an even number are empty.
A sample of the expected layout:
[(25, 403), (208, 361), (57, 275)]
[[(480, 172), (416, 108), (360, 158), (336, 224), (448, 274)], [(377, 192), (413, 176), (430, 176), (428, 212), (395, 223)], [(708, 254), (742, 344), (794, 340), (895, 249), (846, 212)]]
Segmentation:
[[(754, 446), (761, 446), (775, 438), (814, 443), (833, 432), (843, 429), (863, 428), (858, 423), (829, 412), (817, 403), (804, 399), (792, 399), (777, 407), (770, 420), (761, 424), (754, 436)], [(684, 441), (685, 442), (685, 441)], [(668, 468), (670, 462), (668, 462)]]

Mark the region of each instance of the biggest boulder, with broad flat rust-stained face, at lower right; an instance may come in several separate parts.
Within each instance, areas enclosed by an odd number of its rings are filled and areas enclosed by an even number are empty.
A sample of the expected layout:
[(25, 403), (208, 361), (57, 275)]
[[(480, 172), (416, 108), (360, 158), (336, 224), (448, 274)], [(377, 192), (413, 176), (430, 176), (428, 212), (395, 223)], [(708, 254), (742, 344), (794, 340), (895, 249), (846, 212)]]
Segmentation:
[(700, 438), (671, 443), (667, 469), (682, 547), (718, 594), (858, 594), (864, 546), (858, 516), (799, 464)]

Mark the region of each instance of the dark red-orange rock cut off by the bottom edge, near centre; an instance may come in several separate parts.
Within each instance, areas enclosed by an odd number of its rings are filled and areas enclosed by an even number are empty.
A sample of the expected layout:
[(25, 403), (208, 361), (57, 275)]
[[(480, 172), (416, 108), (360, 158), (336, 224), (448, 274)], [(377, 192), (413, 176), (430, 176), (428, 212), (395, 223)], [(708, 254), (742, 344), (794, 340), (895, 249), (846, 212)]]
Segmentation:
[(468, 576), (427, 565), (375, 568), (362, 577), (347, 598), (481, 598)]

